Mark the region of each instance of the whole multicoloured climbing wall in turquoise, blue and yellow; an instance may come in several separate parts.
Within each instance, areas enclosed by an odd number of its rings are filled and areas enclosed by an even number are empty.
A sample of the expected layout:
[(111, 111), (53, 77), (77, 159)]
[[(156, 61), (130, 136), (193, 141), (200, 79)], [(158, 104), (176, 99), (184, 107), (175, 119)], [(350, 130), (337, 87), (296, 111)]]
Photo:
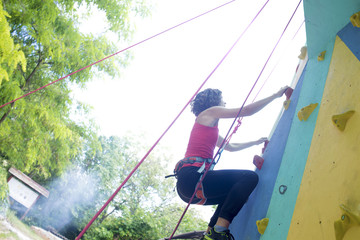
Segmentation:
[(349, 23), (360, 1), (305, 0), (304, 11), (309, 60), (231, 224), (235, 239), (360, 239), (360, 28)]

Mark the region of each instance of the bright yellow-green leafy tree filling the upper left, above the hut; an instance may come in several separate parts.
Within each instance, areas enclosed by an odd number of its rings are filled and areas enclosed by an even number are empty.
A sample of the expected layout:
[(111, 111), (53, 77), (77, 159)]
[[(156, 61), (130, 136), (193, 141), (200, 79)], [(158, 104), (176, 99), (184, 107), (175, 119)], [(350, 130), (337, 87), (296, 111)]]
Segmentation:
[[(105, 13), (104, 34), (79, 30), (77, 9), (84, 6)], [(148, 13), (141, 0), (3, 0), (2, 7), (16, 54), (0, 58), (1, 73), (5, 69), (9, 76), (0, 86), (1, 105), (116, 52), (106, 33), (126, 40), (132, 31), (130, 17)], [(59, 175), (82, 153), (85, 142), (97, 145), (94, 124), (72, 118), (75, 112), (86, 119), (88, 112), (72, 99), (72, 85), (84, 86), (100, 72), (114, 77), (128, 60), (127, 53), (108, 59), (1, 108), (0, 157), (39, 182)]]

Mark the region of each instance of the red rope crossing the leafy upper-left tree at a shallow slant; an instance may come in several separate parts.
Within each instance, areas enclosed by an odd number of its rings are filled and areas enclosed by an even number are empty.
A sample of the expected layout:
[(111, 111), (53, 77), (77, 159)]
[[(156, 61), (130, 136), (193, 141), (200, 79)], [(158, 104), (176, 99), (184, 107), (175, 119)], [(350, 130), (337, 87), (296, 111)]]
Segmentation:
[(50, 86), (50, 85), (52, 85), (52, 84), (54, 84), (54, 83), (57, 83), (58, 81), (61, 81), (61, 80), (65, 79), (65, 78), (67, 78), (67, 77), (70, 77), (70, 76), (72, 76), (72, 75), (74, 75), (74, 74), (76, 74), (76, 73), (78, 73), (78, 72), (80, 72), (80, 71), (82, 71), (82, 70), (84, 70), (84, 69), (87, 69), (87, 68), (89, 68), (89, 67), (91, 67), (91, 66), (93, 66), (93, 65), (95, 65), (95, 64), (98, 64), (98, 63), (100, 63), (100, 62), (102, 62), (102, 61), (104, 61), (104, 60), (106, 60), (106, 59), (108, 59), (108, 58), (111, 58), (111, 57), (113, 57), (113, 56), (115, 56), (115, 55), (118, 55), (118, 54), (121, 53), (121, 52), (124, 52), (124, 51), (126, 51), (126, 50), (128, 50), (128, 49), (130, 49), (130, 48), (133, 48), (133, 47), (135, 47), (135, 46), (137, 46), (137, 45), (139, 45), (139, 44), (142, 44), (142, 43), (144, 43), (144, 42), (146, 42), (146, 41), (148, 41), (148, 40), (150, 40), (150, 39), (152, 39), (152, 38), (155, 38), (155, 37), (157, 37), (157, 36), (159, 36), (159, 35), (161, 35), (161, 34), (164, 34), (164, 33), (168, 32), (168, 31), (170, 31), (170, 30), (172, 30), (172, 29), (174, 29), (174, 28), (180, 27), (181, 25), (184, 25), (185, 23), (191, 22), (191, 21), (193, 21), (193, 20), (195, 20), (195, 19), (197, 19), (197, 18), (199, 18), (199, 17), (201, 17), (201, 16), (204, 16), (204, 15), (206, 15), (206, 14), (212, 12), (212, 11), (215, 11), (215, 10), (221, 8), (221, 7), (224, 7), (225, 5), (228, 5), (228, 4), (230, 4), (230, 3), (234, 2), (234, 1), (235, 1), (235, 0), (231, 0), (231, 1), (229, 1), (229, 2), (226, 2), (226, 3), (224, 3), (224, 4), (222, 4), (222, 5), (218, 6), (218, 7), (215, 7), (215, 8), (213, 8), (213, 9), (211, 9), (211, 10), (209, 10), (209, 11), (206, 11), (206, 12), (200, 14), (200, 15), (197, 15), (197, 16), (195, 16), (195, 17), (193, 17), (193, 18), (190, 18), (190, 19), (188, 19), (188, 20), (186, 20), (186, 21), (184, 21), (184, 22), (182, 22), (182, 23), (179, 23), (179, 24), (177, 24), (177, 25), (175, 25), (175, 26), (173, 26), (173, 27), (170, 27), (170, 28), (168, 28), (168, 29), (166, 29), (166, 30), (164, 30), (164, 31), (162, 31), (162, 32), (160, 32), (160, 33), (157, 33), (157, 34), (155, 34), (155, 35), (153, 35), (153, 36), (151, 36), (151, 37), (148, 37), (148, 38), (146, 38), (146, 39), (144, 39), (144, 40), (142, 40), (142, 41), (140, 41), (140, 42), (137, 42), (137, 43), (135, 43), (135, 44), (133, 44), (133, 45), (127, 47), (127, 48), (124, 48), (124, 49), (122, 49), (122, 50), (120, 50), (120, 51), (118, 51), (118, 52), (116, 52), (116, 53), (113, 53), (113, 54), (111, 54), (111, 55), (109, 55), (109, 56), (107, 56), (107, 57), (105, 57), (105, 58), (103, 58), (103, 59), (101, 59), (101, 60), (99, 60), (99, 61), (96, 61), (96, 62), (94, 62), (94, 63), (92, 63), (92, 64), (90, 64), (90, 65), (88, 65), (88, 66), (86, 66), (86, 67), (83, 67), (83, 68), (81, 68), (81, 69), (79, 69), (79, 70), (77, 70), (77, 71), (75, 71), (75, 72), (72, 72), (72, 73), (70, 73), (70, 74), (68, 74), (68, 75), (66, 75), (66, 76), (64, 76), (64, 77), (61, 77), (61, 78), (59, 78), (59, 79), (57, 79), (57, 80), (55, 80), (55, 81), (53, 81), (53, 82), (51, 82), (51, 83), (48, 83), (48, 84), (46, 84), (45, 86), (42, 86), (42, 87), (40, 87), (40, 88), (38, 88), (38, 89), (35, 89), (35, 90), (33, 90), (33, 91), (31, 91), (31, 92), (29, 92), (29, 93), (27, 93), (27, 94), (19, 97), (19, 98), (16, 98), (16, 99), (14, 99), (14, 100), (12, 100), (12, 101), (10, 101), (10, 102), (8, 102), (8, 103), (5, 103), (5, 104), (1, 105), (0, 108), (3, 108), (3, 107), (5, 107), (5, 106), (7, 106), (7, 105), (9, 105), (9, 104), (11, 104), (11, 103), (14, 103), (14, 102), (16, 102), (16, 101), (18, 101), (18, 100), (20, 100), (20, 99), (22, 99), (22, 98), (30, 95), (30, 94), (33, 94), (33, 93), (35, 93), (35, 92), (37, 92), (37, 91), (39, 91), (39, 90), (41, 90), (41, 89), (43, 89), (43, 88), (46, 88), (46, 87), (48, 87), (48, 86)]

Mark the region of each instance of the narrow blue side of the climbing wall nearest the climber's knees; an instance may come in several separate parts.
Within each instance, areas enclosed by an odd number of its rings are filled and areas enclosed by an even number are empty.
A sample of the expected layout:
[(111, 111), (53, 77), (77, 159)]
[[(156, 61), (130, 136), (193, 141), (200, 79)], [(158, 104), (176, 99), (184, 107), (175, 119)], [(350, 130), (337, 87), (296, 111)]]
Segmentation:
[(264, 153), (259, 153), (264, 159), (261, 170), (256, 170), (256, 173), (259, 175), (259, 184), (231, 224), (230, 230), (235, 239), (253, 240), (260, 238), (260, 233), (255, 223), (258, 219), (264, 218), (271, 200), (272, 190), (295, 114), (304, 74), (300, 76), (300, 80), (297, 82), (296, 88), (291, 95), (288, 109), (284, 109), (280, 114), (281, 118), (278, 121), (278, 127), (273, 132), (270, 142), (264, 149)]

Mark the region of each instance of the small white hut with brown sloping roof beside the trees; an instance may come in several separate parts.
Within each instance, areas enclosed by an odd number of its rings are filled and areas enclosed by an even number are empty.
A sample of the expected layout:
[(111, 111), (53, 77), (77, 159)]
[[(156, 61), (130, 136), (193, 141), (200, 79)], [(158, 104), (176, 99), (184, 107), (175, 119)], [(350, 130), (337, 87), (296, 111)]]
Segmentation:
[(16, 168), (11, 167), (9, 173), (9, 196), (26, 208), (22, 220), (40, 196), (49, 197), (49, 191)]

